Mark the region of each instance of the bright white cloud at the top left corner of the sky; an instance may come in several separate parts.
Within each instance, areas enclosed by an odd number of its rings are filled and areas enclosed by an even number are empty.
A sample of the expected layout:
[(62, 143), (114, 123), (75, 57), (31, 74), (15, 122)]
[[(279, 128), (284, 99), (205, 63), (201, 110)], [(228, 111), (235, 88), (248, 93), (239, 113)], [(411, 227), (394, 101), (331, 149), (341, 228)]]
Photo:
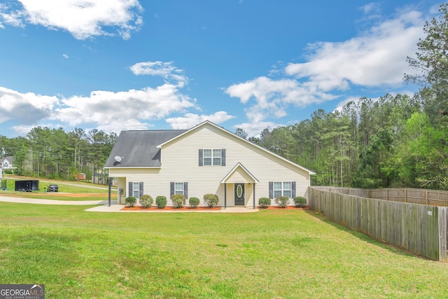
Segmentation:
[(1, 22), (12, 26), (41, 25), (62, 29), (76, 39), (113, 36), (116, 29), (123, 39), (143, 24), (143, 8), (138, 0), (18, 0), (22, 6), (0, 6)]

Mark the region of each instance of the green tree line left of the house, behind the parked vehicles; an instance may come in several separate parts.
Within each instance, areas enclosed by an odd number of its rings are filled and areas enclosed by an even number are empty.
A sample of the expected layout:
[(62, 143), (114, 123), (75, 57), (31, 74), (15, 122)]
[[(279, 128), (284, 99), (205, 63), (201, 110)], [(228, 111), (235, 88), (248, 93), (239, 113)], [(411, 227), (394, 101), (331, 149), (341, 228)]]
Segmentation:
[(0, 146), (3, 156), (13, 156), (15, 174), (72, 181), (82, 173), (92, 180), (102, 173), (117, 138), (96, 129), (34, 127), (26, 137), (0, 135)]

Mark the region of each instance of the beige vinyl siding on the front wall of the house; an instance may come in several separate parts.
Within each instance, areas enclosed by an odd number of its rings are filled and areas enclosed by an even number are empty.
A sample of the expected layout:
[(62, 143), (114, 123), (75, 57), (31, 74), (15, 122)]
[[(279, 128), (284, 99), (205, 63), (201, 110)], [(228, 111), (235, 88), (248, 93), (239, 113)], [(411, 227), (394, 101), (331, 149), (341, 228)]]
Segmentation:
[[(225, 166), (199, 166), (199, 149), (225, 148)], [(162, 146), (160, 169), (110, 169), (110, 176), (126, 177), (130, 181), (144, 182), (144, 194), (154, 199), (158, 195), (169, 200), (169, 182), (188, 182), (188, 197), (197, 197), (203, 204), (203, 195), (218, 195), (224, 206), (224, 184), (221, 181), (241, 162), (260, 183), (255, 183), (255, 205), (258, 198), (269, 197), (269, 181), (295, 181), (296, 196), (305, 196), (309, 186), (309, 173), (290, 162), (242, 141), (213, 125), (203, 125)], [(251, 182), (249, 186), (248, 183)], [(246, 206), (253, 206), (253, 179), (241, 167), (228, 178), (227, 205), (234, 205), (234, 184), (246, 183)], [(119, 186), (119, 188), (122, 188)], [(126, 187), (125, 187), (126, 188)], [(127, 195), (127, 193), (125, 193)]]

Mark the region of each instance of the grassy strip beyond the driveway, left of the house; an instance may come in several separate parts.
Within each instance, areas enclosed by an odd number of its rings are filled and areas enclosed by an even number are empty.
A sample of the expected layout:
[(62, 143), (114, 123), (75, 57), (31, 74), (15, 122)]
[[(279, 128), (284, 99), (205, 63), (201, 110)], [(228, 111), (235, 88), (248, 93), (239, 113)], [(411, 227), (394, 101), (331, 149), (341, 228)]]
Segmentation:
[[(33, 192), (19, 192), (14, 190), (16, 178), (6, 176), (6, 179), (8, 190), (0, 190), (0, 196), (3, 195), (10, 197), (27, 197), (42, 200), (106, 200), (109, 197), (107, 186), (104, 185), (69, 181), (40, 180), (40, 190)], [(36, 178), (23, 177), (20, 179)], [(50, 183), (57, 184), (57, 186), (59, 186), (59, 192), (45, 192), (45, 188), (50, 185)], [(117, 193), (115, 189), (113, 189), (111, 192), (111, 199), (117, 199)]]

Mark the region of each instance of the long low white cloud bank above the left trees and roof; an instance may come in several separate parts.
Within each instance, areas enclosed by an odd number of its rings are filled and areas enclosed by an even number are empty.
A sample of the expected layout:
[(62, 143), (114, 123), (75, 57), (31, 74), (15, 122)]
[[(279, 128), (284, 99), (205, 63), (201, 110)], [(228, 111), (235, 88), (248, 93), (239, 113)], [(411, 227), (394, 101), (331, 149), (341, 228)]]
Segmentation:
[[(197, 109), (196, 100), (170, 84), (123, 92), (98, 90), (88, 97), (60, 99), (0, 87), (0, 123), (20, 123), (13, 127), (20, 134), (50, 121), (62, 123), (62, 127), (90, 124), (105, 132), (143, 130), (151, 127), (148, 121), (188, 109)], [(218, 116), (216, 113), (216, 119)]]

